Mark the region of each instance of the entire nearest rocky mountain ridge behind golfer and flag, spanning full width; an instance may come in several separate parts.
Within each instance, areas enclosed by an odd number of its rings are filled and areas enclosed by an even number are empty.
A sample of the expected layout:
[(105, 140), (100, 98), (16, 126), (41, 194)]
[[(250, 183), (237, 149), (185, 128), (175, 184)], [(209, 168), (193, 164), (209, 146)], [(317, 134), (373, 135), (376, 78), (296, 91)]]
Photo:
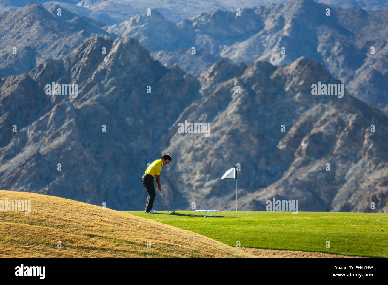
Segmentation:
[[(314, 95), (313, 84), (335, 92)], [(221, 59), (193, 76), (134, 38), (95, 36), (0, 79), (0, 106), (3, 190), (140, 211), (147, 163), (168, 152), (162, 190), (175, 209), (232, 210), (234, 181), (220, 178), (239, 163), (240, 210), (264, 211), (275, 197), (298, 200), (299, 211), (387, 211), (388, 117), (307, 57), (287, 66)], [(182, 133), (185, 121), (207, 134)], [(157, 197), (154, 209), (165, 208)]]

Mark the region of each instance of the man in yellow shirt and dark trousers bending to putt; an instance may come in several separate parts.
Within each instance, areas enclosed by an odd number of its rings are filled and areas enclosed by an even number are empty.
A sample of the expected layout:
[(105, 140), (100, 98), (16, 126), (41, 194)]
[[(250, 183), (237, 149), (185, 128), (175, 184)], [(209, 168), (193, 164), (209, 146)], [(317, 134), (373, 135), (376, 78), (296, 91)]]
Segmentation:
[(158, 212), (152, 210), (152, 205), (155, 200), (155, 185), (154, 178), (156, 177), (156, 184), (158, 184), (158, 189), (162, 192), (162, 187), (160, 186), (160, 171), (162, 170), (162, 166), (170, 163), (171, 155), (165, 154), (162, 159), (156, 159), (156, 161), (152, 162), (147, 169), (145, 169), (144, 175), (142, 177), (143, 185), (145, 190), (148, 192), (147, 204), (145, 204), (145, 213), (146, 214), (158, 214)]

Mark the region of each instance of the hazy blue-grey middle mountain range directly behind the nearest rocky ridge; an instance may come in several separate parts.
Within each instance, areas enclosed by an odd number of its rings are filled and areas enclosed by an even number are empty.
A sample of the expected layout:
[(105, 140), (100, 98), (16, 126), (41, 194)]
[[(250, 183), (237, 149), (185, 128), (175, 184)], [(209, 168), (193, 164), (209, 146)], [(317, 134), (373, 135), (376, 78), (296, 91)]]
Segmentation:
[[(130, 36), (164, 66), (178, 64), (193, 75), (225, 57), (235, 64), (266, 60), (281, 65), (307, 56), (322, 62), (351, 94), (388, 114), (388, 11), (331, 7), (331, 16), (326, 16), (324, 4), (292, 0), (242, 9), (242, 16), (215, 10), (179, 23), (152, 10), (152, 16), (137, 15), (104, 26), (64, 8), (57, 16), (59, 7), (45, 10), (29, 3), (17, 12), (0, 14), (1, 77), (28, 72), (44, 59), (67, 55), (93, 35)], [(196, 47), (195, 56), (192, 47)], [(286, 54), (281, 54), (282, 47)]]

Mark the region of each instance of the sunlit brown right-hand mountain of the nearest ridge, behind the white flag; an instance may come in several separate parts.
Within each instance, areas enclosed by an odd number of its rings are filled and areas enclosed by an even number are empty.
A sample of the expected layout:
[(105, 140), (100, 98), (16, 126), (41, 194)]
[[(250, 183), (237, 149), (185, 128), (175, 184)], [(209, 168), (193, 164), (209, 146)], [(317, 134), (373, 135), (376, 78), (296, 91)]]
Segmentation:
[[(301, 211), (371, 212), (371, 202), (387, 210), (387, 117), (346, 89), (343, 98), (312, 95), (312, 84), (340, 83), (322, 64), (301, 57), (288, 66), (236, 66), (223, 59), (198, 80), (203, 97), (164, 137), (178, 160), (171, 176), (188, 201), (233, 209), (235, 181), (220, 177), (239, 163), (241, 210), (264, 211), (273, 198), (298, 200)], [(177, 133), (184, 120), (210, 122), (211, 135)]]

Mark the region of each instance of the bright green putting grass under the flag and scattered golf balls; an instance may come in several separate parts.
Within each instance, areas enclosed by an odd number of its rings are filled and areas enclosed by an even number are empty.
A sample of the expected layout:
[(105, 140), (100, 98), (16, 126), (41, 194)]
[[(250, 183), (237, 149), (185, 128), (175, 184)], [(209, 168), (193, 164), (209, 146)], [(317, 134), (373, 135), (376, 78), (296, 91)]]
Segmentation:
[[(388, 214), (383, 213), (216, 212), (206, 213), (207, 218), (192, 211), (125, 213), (194, 231), (231, 246), (239, 241), (241, 247), (388, 257)], [(330, 248), (326, 248), (327, 241)]]

